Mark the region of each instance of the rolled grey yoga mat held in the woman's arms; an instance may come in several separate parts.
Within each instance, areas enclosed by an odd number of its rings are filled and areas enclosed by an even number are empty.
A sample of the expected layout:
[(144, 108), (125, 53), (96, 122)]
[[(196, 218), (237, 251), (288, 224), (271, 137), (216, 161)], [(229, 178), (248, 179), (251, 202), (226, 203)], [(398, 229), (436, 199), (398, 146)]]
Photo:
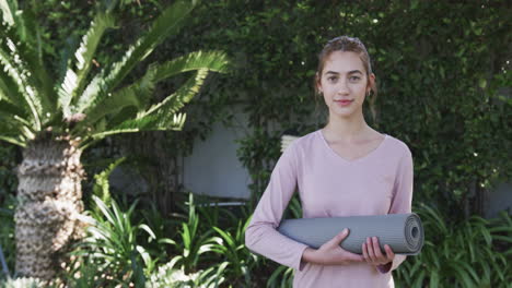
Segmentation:
[(376, 236), (382, 251), (388, 244), (395, 254), (416, 255), (423, 247), (423, 226), (415, 213), (379, 216), (286, 219), (278, 227), (282, 235), (319, 248), (344, 228), (350, 230), (341, 248), (362, 254), (361, 245), (368, 237)]

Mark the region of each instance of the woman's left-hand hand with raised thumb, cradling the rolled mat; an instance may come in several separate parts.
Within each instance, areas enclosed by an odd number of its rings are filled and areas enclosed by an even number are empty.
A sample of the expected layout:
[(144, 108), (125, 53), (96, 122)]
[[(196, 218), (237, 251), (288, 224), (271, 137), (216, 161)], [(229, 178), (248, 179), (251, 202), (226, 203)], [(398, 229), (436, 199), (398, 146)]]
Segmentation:
[(352, 262), (364, 262), (364, 257), (342, 249), (339, 244), (349, 235), (348, 229), (344, 229), (328, 242), (317, 250), (306, 248), (302, 257), (306, 262), (321, 265), (345, 265)]

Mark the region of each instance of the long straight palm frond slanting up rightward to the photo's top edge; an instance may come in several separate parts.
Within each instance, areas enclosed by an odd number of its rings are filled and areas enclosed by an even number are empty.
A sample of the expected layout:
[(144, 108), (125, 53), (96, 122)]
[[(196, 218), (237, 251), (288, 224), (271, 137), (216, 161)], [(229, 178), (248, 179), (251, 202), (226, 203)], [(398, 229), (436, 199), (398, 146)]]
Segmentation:
[[(139, 40), (131, 46), (119, 62), (112, 65), (110, 71), (102, 71), (88, 85), (85, 92), (80, 95), (78, 103), (101, 103), (102, 98), (108, 97), (136, 64), (144, 60), (154, 48), (166, 37), (176, 34), (183, 26), (186, 16), (193, 10), (193, 5), (186, 1), (177, 1), (153, 22), (153, 25)], [(78, 110), (86, 110), (88, 105), (80, 106)]]

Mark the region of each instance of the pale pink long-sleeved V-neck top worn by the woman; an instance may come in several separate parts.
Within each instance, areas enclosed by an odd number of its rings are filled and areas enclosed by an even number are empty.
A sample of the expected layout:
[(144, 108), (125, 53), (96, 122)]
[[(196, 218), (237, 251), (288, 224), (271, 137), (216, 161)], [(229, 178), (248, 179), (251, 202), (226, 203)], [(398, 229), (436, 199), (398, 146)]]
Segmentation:
[(385, 134), (368, 155), (346, 160), (327, 144), (321, 130), (290, 144), (276, 164), (245, 232), (246, 247), (294, 268), (294, 288), (394, 287), (391, 271), (366, 263), (316, 265), (302, 261), (307, 245), (276, 230), (295, 189), (304, 218), (409, 213), (412, 156), (408, 146)]

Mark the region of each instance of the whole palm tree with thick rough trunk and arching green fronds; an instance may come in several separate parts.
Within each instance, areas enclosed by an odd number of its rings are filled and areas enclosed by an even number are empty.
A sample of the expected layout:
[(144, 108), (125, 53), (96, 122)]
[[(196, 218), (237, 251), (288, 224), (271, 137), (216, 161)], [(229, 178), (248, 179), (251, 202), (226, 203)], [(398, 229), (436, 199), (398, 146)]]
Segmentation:
[[(83, 235), (80, 161), (82, 152), (113, 134), (179, 130), (177, 111), (196, 95), (209, 71), (225, 72), (220, 51), (198, 51), (152, 63), (138, 80), (126, 76), (153, 49), (183, 26), (194, 3), (177, 1), (154, 20), (123, 58), (89, 75), (102, 35), (114, 27), (112, 9), (98, 12), (82, 37), (65, 76), (47, 70), (40, 28), (15, 0), (0, 0), (0, 140), (23, 147), (18, 168), (16, 273), (50, 279), (58, 256)], [(155, 84), (194, 72), (162, 101), (151, 104)]]

